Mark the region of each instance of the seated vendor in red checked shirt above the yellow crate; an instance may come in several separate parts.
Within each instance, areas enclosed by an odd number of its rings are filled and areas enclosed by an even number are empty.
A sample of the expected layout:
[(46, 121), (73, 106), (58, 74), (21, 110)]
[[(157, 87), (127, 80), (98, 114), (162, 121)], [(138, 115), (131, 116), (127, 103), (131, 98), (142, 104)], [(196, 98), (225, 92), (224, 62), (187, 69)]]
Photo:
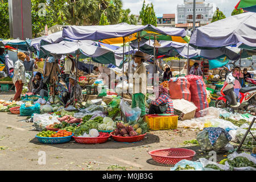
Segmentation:
[[(167, 104), (167, 109), (160, 111), (159, 105), (164, 104)], [(164, 88), (163, 85), (159, 86), (159, 97), (156, 101), (151, 102), (148, 114), (174, 114), (174, 104), (172, 103), (168, 89)]]

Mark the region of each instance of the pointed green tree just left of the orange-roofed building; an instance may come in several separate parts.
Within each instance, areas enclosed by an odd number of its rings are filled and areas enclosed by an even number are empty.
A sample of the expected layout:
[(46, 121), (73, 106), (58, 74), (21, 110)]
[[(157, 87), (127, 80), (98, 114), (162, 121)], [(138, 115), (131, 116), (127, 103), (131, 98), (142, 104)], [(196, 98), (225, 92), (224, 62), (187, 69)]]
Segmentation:
[(147, 4), (145, 7), (145, 0), (142, 5), (142, 9), (139, 12), (139, 19), (142, 20), (142, 25), (152, 24), (153, 26), (157, 26), (157, 18), (154, 11), (154, 5), (151, 3)]

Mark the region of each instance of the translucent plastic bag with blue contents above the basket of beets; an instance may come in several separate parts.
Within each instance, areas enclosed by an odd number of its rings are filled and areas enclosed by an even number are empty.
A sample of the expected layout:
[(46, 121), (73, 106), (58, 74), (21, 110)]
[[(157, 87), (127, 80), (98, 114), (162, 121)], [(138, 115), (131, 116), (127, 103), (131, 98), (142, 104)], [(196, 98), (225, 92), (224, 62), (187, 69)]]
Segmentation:
[(129, 105), (127, 105), (123, 101), (123, 99), (121, 99), (120, 107), (121, 107), (123, 114), (125, 114), (127, 122), (137, 121), (139, 116), (141, 115), (141, 108), (134, 107), (133, 109), (131, 109), (131, 107)]

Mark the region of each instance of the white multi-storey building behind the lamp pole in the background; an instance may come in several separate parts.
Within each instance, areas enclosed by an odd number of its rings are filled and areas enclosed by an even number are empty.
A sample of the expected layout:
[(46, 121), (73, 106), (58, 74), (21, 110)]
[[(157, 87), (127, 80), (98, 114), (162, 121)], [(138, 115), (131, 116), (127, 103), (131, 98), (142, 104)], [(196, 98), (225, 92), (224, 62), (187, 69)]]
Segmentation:
[[(196, 0), (196, 23), (199, 26), (210, 23), (213, 13), (212, 4), (205, 0)], [(181, 23), (193, 23), (193, 0), (184, 0), (183, 5), (177, 5), (177, 24)]]

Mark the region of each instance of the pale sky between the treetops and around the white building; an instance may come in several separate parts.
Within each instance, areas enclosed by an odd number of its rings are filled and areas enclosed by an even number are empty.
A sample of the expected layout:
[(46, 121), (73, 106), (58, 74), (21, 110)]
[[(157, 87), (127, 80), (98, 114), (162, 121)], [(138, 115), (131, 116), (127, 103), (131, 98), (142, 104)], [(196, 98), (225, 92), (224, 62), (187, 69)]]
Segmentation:
[[(183, 4), (183, 0), (146, 0), (153, 3), (155, 14), (176, 14), (177, 5)], [(239, 0), (205, 0), (207, 3), (215, 3), (226, 17), (231, 16), (234, 7)], [(138, 15), (141, 11), (143, 0), (123, 0), (123, 9), (130, 9), (131, 14)]]

